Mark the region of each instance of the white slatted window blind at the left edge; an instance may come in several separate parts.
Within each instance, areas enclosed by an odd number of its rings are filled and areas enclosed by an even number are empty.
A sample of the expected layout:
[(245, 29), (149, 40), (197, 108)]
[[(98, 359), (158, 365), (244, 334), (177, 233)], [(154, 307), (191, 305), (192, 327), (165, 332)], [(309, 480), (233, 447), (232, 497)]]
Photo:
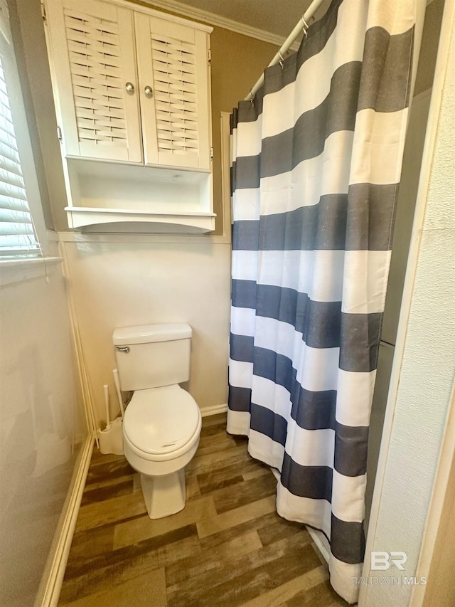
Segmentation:
[(40, 253), (23, 181), (0, 56), (0, 256)]

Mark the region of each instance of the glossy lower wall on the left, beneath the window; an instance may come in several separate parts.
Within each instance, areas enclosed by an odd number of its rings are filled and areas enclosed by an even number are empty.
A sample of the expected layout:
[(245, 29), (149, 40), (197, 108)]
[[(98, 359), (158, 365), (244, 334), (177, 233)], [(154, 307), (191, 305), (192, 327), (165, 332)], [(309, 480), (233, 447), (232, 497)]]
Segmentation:
[(85, 436), (60, 265), (1, 287), (0, 312), (0, 602), (28, 607)]

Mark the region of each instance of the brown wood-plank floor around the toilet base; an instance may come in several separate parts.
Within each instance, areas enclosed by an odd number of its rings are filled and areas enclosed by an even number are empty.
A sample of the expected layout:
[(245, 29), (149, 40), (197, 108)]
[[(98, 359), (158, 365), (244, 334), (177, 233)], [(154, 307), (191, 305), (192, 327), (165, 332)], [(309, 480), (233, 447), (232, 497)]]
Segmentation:
[(225, 414), (203, 418), (186, 468), (186, 507), (164, 519), (149, 519), (127, 460), (92, 455), (59, 605), (348, 604), (305, 527), (275, 512), (269, 468), (225, 425)]

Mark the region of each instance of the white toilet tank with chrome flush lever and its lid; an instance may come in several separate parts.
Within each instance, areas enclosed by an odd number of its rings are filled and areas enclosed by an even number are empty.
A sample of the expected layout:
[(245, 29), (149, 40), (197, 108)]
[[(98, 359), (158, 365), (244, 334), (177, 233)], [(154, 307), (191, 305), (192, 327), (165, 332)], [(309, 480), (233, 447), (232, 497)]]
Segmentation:
[(178, 322), (114, 330), (120, 388), (145, 390), (190, 379), (191, 327)]

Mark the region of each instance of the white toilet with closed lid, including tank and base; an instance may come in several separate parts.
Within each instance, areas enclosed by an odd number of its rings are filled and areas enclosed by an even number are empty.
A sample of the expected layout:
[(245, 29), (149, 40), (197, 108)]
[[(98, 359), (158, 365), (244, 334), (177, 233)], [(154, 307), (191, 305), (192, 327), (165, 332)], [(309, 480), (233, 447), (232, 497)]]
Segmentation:
[(201, 417), (178, 384), (190, 377), (191, 327), (146, 324), (115, 329), (112, 341), (122, 391), (134, 391), (124, 413), (124, 454), (141, 474), (151, 519), (185, 507), (185, 466), (199, 444)]

